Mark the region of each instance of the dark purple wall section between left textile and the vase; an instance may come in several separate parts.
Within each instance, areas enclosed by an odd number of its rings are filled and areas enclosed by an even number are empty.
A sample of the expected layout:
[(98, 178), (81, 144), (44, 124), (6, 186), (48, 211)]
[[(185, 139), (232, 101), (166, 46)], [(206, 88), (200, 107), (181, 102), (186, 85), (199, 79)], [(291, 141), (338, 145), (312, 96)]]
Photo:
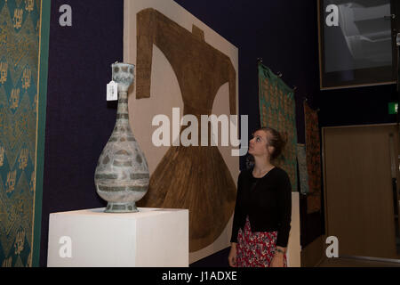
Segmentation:
[[(60, 27), (60, 5), (72, 27)], [(52, 0), (40, 265), (47, 264), (49, 214), (105, 203), (94, 170), (116, 122), (106, 102), (111, 63), (123, 60), (123, 0)]]

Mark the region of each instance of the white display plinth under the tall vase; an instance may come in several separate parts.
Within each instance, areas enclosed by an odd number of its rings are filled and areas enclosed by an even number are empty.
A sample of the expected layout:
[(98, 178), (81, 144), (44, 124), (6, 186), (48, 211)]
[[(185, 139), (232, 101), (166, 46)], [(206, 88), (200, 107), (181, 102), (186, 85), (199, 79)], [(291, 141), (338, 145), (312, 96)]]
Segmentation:
[(50, 215), (49, 267), (188, 267), (188, 210)]

